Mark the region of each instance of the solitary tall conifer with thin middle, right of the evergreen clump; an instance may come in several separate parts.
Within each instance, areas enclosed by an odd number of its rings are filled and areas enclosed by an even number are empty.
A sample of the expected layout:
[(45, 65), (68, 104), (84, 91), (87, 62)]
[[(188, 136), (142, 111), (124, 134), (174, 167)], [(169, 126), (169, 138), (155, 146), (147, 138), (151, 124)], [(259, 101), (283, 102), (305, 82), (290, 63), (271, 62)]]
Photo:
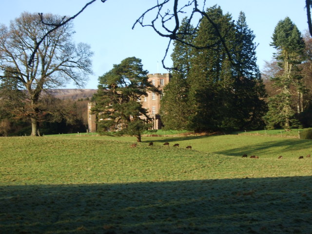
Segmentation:
[(277, 50), (275, 59), (283, 69), (283, 74), (272, 78), (278, 93), (269, 101), (269, 112), (266, 115), (267, 127), (274, 128), (280, 125), (289, 130), (291, 125), (297, 123), (292, 108), (291, 85), (297, 86), (299, 93), (304, 90), (297, 65), (303, 61), (305, 43), (289, 17), (277, 23), (272, 40), (271, 45)]

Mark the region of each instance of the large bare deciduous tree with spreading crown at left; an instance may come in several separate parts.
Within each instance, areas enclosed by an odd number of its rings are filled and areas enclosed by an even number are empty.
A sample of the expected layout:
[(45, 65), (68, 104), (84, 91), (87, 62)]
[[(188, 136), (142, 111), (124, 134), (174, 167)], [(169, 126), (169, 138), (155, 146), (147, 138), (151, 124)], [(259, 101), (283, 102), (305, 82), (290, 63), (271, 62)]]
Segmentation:
[(22, 13), (20, 18), (11, 21), (9, 28), (0, 26), (0, 79), (2, 82), (8, 78), (16, 80), (25, 89), (21, 114), (31, 119), (31, 136), (39, 136), (42, 91), (69, 80), (82, 86), (92, 73), (93, 53), (89, 45), (76, 46), (72, 42), (72, 23), (67, 21), (58, 28), (54, 25), (66, 19), (46, 15), (43, 24), (38, 14)]

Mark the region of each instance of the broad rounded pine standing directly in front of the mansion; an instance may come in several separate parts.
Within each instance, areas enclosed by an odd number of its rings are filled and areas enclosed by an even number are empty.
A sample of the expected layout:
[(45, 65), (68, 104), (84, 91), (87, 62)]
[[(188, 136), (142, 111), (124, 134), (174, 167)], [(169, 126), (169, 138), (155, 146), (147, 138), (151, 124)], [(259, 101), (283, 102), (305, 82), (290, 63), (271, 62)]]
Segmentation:
[(99, 133), (127, 134), (141, 141), (141, 133), (148, 129), (151, 118), (139, 100), (147, 96), (147, 91), (159, 93), (148, 81), (147, 74), (141, 59), (131, 57), (115, 64), (112, 70), (98, 78), (98, 92), (94, 95), (96, 105), (92, 111), (98, 114)]

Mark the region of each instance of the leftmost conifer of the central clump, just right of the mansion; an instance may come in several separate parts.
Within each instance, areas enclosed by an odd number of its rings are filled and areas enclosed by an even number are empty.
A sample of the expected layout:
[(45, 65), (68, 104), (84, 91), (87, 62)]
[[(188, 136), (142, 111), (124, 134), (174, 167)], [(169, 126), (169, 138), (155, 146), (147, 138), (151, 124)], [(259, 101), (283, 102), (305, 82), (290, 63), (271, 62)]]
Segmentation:
[[(192, 43), (195, 29), (185, 18), (181, 22), (178, 33), (183, 34), (186, 43)], [(187, 79), (190, 71), (191, 47), (179, 41), (174, 42), (171, 55), (173, 60), (172, 78), (164, 88), (161, 99), (161, 120), (165, 129), (187, 129), (189, 127), (190, 105), (188, 100), (189, 87)]]

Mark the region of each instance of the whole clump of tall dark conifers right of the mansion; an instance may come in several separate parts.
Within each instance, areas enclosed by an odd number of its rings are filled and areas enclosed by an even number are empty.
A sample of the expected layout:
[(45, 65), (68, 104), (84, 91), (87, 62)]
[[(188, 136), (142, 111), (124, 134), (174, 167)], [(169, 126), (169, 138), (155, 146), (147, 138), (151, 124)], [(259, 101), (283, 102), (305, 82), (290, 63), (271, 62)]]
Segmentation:
[(161, 102), (164, 125), (195, 131), (260, 127), (265, 90), (245, 15), (235, 25), (219, 6), (205, 14), (214, 24), (204, 18), (195, 30), (185, 19), (177, 32), (188, 44), (175, 42), (173, 78)]

